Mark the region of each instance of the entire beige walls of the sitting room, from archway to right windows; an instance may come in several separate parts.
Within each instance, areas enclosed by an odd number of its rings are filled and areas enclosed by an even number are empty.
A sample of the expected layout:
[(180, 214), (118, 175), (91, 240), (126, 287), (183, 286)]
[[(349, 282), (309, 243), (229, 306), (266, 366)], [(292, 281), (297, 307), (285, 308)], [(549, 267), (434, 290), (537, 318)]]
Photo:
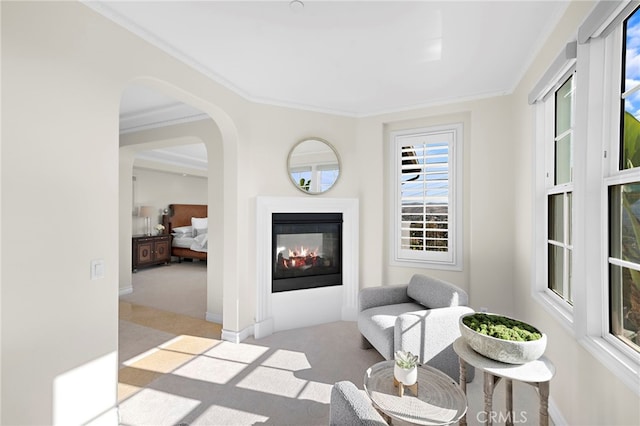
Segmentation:
[[(224, 250), (220, 275), (208, 276), (222, 303), (208, 300), (208, 310), (222, 309), (231, 333), (250, 329), (255, 315), (256, 271), (246, 262), (255, 247), (255, 197), (304, 197), (286, 174), (298, 140), (330, 141), (343, 167), (326, 196), (360, 200), (361, 285), (399, 283), (425, 270), (388, 266), (385, 129), (464, 117), (465, 268), (429, 273), (466, 288), (474, 307), (516, 313), (549, 333), (559, 370), (551, 397), (569, 424), (638, 423), (638, 397), (531, 298), (526, 93), (589, 5), (570, 8), (564, 32), (544, 46), (512, 96), (359, 119), (251, 104), (79, 3), (1, 7), (0, 423), (117, 422), (118, 290), (130, 280), (119, 271), (130, 270), (132, 232), (131, 192), (122, 182), (130, 183), (134, 145), (142, 142), (119, 148), (118, 113), (122, 90), (134, 81), (215, 123), (217, 139), (204, 142), (219, 167), (209, 170), (207, 192), (210, 205), (220, 201)], [(90, 280), (92, 259), (104, 259), (104, 279)]]

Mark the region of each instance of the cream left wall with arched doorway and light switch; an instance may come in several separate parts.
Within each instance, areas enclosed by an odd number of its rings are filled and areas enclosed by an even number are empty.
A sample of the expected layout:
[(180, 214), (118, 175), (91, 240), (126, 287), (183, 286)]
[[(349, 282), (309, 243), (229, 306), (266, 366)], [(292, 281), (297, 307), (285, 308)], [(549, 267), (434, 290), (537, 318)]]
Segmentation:
[[(0, 7), (0, 423), (116, 424), (118, 235), (119, 220), (127, 222), (119, 214), (122, 90), (152, 76), (171, 82), (176, 99), (198, 93), (193, 103), (216, 118), (230, 145), (230, 181), (238, 140), (231, 117), (246, 102), (83, 4)], [(236, 197), (227, 195), (224, 215), (237, 216)], [(225, 238), (237, 238), (233, 217)], [(225, 256), (226, 281), (237, 282), (235, 252)], [(105, 278), (90, 279), (93, 259), (104, 260)]]

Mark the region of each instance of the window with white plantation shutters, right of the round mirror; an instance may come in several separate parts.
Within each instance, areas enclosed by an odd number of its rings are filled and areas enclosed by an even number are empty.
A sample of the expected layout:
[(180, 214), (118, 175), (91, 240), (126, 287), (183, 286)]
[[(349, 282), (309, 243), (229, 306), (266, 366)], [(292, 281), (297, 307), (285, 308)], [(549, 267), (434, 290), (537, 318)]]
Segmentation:
[(457, 140), (462, 125), (392, 133), (394, 261), (459, 268)]

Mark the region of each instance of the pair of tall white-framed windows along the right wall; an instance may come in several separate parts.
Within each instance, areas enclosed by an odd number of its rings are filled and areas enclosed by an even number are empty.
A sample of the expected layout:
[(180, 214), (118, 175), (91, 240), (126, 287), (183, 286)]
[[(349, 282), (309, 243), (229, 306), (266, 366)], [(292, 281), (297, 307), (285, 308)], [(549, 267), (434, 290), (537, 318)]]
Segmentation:
[[(640, 392), (640, 11), (601, 1), (529, 94), (535, 299)], [(575, 70), (575, 71), (574, 71)]]

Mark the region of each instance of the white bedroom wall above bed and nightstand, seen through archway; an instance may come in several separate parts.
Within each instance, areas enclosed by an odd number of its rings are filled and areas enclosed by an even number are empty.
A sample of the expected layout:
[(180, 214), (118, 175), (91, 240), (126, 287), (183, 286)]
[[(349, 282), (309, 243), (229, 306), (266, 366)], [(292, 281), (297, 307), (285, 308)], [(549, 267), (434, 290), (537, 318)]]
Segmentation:
[[(183, 176), (160, 170), (136, 167), (133, 162), (135, 177), (136, 206), (151, 206), (156, 215), (151, 218), (151, 229), (162, 223), (162, 211), (169, 204), (207, 204), (207, 178), (200, 176)], [(133, 235), (145, 232), (144, 218), (134, 217)]]

